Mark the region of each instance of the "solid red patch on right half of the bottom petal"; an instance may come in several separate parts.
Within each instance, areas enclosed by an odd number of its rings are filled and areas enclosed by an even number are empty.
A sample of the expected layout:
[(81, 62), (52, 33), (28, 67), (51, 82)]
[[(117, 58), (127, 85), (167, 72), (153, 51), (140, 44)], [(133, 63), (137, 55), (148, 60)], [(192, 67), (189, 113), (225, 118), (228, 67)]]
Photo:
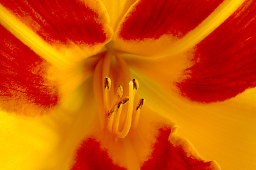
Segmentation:
[(174, 147), (169, 142), (171, 129), (159, 130), (151, 157), (144, 162), (142, 170), (210, 170), (211, 162), (188, 157), (181, 146)]

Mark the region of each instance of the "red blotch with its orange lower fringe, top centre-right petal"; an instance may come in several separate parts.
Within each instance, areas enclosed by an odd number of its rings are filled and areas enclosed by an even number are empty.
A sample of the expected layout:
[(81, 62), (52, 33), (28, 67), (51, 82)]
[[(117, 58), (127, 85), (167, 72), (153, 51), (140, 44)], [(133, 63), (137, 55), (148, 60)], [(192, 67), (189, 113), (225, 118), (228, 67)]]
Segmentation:
[(153, 55), (183, 38), (222, 2), (139, 0), (124, 16), (114, 41), (124, 51)]

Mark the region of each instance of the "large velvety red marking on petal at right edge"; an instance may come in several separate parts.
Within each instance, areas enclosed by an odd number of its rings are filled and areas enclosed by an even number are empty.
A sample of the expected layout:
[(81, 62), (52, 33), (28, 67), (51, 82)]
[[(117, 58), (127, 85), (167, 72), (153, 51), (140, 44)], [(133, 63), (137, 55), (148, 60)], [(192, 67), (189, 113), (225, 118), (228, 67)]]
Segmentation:
[(196, 46), (189, 78), (178, 83), (193, 101), (224, 101), (256, 86), (256, 3), (246, 1)]

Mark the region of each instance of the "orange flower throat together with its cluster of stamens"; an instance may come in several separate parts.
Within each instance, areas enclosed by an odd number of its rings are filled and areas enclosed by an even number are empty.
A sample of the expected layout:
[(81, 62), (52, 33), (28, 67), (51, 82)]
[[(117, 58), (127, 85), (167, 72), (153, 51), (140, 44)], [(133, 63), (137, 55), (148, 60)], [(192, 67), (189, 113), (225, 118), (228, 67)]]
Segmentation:
[[(110, 78), (111, 77), (111, 78)], [(139, 82), (120, 57), (108, 51), (98, 62), (94, 91), (102, 130), (115, 139), (131, 135), (139, 123), (144, 99), (137, 100)]]

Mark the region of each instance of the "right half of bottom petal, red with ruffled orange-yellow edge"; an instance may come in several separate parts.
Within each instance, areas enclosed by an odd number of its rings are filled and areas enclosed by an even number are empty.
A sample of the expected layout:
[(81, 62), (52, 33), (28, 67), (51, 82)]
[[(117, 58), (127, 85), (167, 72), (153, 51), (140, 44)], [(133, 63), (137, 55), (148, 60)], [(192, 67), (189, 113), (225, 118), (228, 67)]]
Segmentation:
[(154, 150), (149, 160), (144, 162), (142, 170), (203, 170), (220, 169), (215, 162), (205, 162), (186, 141), (174, 134), (169, 128), (159, 129)]

